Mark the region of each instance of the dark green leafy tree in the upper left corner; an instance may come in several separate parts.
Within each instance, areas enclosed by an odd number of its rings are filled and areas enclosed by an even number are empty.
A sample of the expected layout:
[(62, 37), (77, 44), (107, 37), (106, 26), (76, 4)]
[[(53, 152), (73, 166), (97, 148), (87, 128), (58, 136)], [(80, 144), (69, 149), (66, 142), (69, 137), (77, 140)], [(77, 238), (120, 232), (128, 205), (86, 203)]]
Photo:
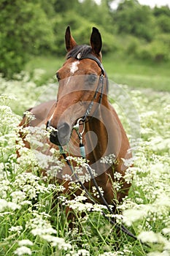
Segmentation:
[(53, 31), (39, 0), (1, 1), (0, 9), (0, 72), (10, 78), (31, 54), (51, 48)]

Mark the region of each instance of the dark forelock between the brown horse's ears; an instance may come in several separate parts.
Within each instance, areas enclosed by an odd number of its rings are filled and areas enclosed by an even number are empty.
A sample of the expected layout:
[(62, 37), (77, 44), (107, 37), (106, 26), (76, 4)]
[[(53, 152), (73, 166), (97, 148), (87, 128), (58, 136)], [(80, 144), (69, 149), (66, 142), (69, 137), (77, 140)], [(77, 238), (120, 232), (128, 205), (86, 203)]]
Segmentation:
[(91, 53), (91, 46), (90, 45), (76, 45), (72, 50), (69, 51), (66, 55), (66, 59), (75, 58), (77, 59), (77, 55), (80, 53), (81, 58), (84, 58), (89, 53)]

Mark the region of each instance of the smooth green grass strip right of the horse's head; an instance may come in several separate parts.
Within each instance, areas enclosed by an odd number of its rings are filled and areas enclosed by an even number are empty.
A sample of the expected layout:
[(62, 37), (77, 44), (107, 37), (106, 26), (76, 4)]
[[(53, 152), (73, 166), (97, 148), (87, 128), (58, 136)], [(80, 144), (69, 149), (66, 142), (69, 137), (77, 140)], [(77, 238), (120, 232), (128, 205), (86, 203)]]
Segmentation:
[(104, 58), (104, 67), (110, 80), (126, 84), (131, 88), (152, 88), (170, 91), (170, 62), (152, 63), (134, 59)]

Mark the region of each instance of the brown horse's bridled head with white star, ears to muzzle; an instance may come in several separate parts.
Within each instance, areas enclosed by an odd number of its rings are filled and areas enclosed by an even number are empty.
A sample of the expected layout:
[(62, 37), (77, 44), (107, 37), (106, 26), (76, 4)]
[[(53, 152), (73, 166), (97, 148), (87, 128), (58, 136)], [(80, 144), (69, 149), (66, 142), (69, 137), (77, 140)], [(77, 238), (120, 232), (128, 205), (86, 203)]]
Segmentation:
[(52, 128), (50, 141), (58, 146), (69, 142), (77, 120), (88, 116), (93, 103), (100, 102), (101, 93), (106, 90), (101, 79), (106, 74), (101, 64), (102, 41), (98, 29), (93, 28), (90, 45), (77, 45), (68, 26), (65, 42), (66, 61), (56, 72), (57, 103), (47, 121), (47, 127)]

